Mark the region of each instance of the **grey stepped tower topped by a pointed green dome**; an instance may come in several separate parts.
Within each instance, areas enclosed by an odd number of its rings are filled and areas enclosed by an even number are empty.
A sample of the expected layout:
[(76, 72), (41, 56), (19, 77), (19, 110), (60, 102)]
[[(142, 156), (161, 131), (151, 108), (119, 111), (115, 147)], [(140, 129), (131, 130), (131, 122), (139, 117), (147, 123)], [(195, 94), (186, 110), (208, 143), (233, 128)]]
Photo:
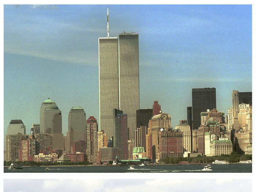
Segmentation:
[(40, 108), (40, 133), (52, 136), (52, 149), (63, 153), (64, 139), (62, 133), (61, 111), (50, 98), (42, 102)]

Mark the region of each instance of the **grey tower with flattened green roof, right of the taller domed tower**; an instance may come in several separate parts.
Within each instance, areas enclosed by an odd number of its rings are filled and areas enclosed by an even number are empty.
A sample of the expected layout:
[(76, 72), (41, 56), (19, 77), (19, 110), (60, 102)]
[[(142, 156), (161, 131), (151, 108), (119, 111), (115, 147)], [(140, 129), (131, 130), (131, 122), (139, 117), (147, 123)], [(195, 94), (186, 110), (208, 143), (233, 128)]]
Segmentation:
[(68, 113), (67, 153), (79, 140), (86, 140), (86, 114), (82, 107), (73, 106)]

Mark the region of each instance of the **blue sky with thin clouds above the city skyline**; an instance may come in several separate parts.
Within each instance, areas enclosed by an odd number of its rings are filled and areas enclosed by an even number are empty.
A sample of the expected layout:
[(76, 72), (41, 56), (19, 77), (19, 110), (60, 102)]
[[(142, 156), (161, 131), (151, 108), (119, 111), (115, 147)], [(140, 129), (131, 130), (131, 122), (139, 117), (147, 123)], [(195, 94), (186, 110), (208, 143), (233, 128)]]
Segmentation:
[[(252, 91), (252, 5), (108, 5), (110, 37), (139, 34), (140, 109), (158, 101), (174, 128), (192, 89), (215, 87), (217, 110), (231, 91)], [(107, 5), (4, 5), (4, 138), (12, 119), (30, 133), (47, 98), (62, 112), (82, 106), (99, 120), (98, 38)]]

